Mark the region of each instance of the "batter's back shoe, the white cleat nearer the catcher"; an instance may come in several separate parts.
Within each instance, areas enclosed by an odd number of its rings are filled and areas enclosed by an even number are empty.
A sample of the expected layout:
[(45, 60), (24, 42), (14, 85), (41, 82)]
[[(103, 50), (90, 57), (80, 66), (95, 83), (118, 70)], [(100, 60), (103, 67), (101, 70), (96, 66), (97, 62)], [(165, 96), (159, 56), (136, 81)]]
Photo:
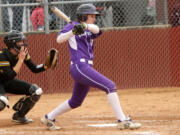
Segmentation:
[(45, 124), (49, 130), (59, 130), (61, 127), (55, 125), (55, 120), (49, 120), (47, 115), (41, 118), (41, 123)]

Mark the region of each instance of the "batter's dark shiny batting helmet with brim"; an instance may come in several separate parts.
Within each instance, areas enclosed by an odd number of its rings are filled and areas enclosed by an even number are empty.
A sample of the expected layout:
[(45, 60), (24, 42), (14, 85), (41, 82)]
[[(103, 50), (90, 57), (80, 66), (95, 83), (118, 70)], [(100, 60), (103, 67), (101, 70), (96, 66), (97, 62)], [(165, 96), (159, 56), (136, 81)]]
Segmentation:
[(93, 4), (82, 4), (77, 8), (76, 15), (77, 20), (81, 22), (87, 20), (87, 15), (100, 15), (100, 13)]

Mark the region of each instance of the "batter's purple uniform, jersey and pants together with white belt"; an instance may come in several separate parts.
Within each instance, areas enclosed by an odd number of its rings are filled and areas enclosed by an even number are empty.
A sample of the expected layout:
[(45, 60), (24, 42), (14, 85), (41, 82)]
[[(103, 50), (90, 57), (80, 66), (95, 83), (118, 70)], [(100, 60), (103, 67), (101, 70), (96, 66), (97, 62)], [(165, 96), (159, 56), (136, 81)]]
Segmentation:
[[(73, 23), (75, 25), (79, 24), (78, 22)], [(69, 32), (73, 27), (69, 23), (59, 34)], [(93, 68), (93, 40), (101, 34), (101, 30), (98, 34), (93, 34), (89, 30), (85, 30), (84, 34), (74, 35), (68, 40), (71, 57), (70, 73), (75, 81), (73, 95), (69, 100), (69, 105), (72, 108), (76, 108), (82, 104), (90, 87), (99, 88), (106, 93), (116, 90), (114, 82)]]

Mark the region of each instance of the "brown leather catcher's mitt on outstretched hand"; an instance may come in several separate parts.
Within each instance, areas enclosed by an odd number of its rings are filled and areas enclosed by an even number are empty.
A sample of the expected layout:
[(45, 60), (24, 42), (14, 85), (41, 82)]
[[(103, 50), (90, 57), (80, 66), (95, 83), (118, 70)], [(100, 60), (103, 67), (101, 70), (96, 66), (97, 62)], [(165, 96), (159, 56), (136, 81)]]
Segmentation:
[(58, 50), (56, 50), (55, 48), (51, 48), (48, 51), (48, 55), (46, 57), (45, 60), (45, 68), (52, 68), (54, 69), (56, 67), (57, 64), (57, 56), (58, 56)]

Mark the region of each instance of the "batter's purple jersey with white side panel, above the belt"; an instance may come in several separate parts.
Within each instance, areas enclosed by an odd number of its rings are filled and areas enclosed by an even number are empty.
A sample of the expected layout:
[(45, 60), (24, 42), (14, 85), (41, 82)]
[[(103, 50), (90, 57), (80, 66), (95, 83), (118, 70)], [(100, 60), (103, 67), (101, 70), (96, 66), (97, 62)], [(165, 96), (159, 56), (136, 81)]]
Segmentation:
[[(73, 22), (75, 25), (79, 24), (78, 22)], [(71, 23), (67, 24), (64, 29), (59, 33), (66, 33), (73, 29)], [(75, 35), (68, 40), (69, 51), (71, 61), (77, 61), (81, 58), (93, 60), (93, 47), (94, 47), (94, 38), (102, 34), (100, 30), (98, 34), (93, 34), (89, 30), (85, 30), (84, 34)]]

